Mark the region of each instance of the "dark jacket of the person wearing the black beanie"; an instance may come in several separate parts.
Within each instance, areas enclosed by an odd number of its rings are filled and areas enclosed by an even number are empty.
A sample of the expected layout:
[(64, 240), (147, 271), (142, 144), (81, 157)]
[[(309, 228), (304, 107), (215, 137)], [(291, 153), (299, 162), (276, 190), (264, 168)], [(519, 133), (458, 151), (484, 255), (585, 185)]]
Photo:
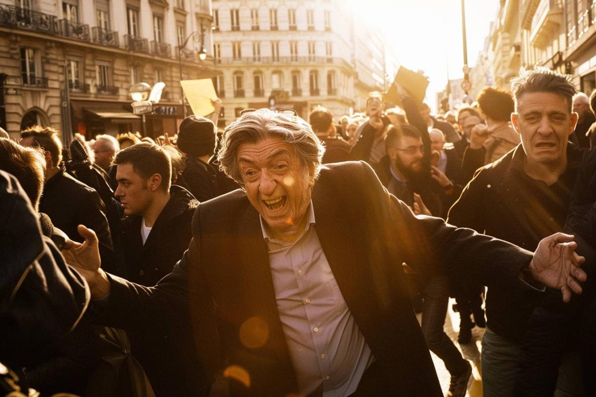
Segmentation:
[(186, 167), (179, 177), (179, 183), (200, 202), (222, 194), (215, 169), (198, 158), (186, 158)]

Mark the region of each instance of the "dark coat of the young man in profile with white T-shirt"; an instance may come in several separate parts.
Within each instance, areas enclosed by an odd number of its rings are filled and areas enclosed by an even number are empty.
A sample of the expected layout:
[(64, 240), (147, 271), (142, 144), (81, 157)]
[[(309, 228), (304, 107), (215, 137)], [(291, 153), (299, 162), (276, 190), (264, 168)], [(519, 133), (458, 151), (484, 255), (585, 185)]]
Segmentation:
[[(131, 216), (123, 221), (120, 237), (129, 280), (153, 286), (172, 271), (192, 238), (191, 223), (197, 205), (188, 190), (171, 186), (170, 199), (144, 245), (142, 217)], [(156, 396), (200, 396), (206, 392), (204, 371), (182, 317), (173, 318), (167, 330), (147, 324), (128, 334), (132, 354), (147, 373)]]

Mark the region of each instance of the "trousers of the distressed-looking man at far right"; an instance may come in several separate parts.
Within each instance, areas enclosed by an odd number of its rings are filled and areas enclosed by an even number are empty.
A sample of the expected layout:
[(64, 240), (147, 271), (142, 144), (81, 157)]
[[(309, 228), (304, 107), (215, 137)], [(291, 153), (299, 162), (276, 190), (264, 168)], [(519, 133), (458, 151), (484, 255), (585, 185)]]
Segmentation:
[(486, 327), (482, 338), (483, 397), (513, 397), (520, 346)]

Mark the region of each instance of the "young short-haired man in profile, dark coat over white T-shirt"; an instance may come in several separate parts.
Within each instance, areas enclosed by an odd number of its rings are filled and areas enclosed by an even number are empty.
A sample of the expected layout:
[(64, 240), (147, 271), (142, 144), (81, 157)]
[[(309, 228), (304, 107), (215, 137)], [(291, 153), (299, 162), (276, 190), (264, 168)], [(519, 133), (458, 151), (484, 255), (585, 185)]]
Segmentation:
[[(153, 286), (170, 273), (192, 238), (198, 201), (184, 188), (170, 186), (172, 166), (166, 152), (152, 143), (120, 151), (116, 197), (125, 215), (120, 231), (127, 279)], [(177, 324), (178, 326), (176, 326)], [(183, 323), (169, 330), (131, 330), (132, 353), (157, 396), (201, 395), (204, 377)]]

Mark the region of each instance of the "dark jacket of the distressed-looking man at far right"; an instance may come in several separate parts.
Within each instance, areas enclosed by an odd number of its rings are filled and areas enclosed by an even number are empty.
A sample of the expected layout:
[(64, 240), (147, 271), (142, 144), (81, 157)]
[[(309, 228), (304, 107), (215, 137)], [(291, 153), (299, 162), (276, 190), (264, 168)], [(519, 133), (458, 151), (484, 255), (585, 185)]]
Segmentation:
[[(578, 164), (587, 153), (568, 145), (566, 171), (547, 186), (524, 173), (526, 154), (518, 145), (477, 171), (449, 210), (447, 221), (534, 251), (544, 237), (563, 231)], [(521, 342), (529, 315), (544, 297), (534, 298), (532, 292), (489, 288), (488, 327), (505, 339)]]

